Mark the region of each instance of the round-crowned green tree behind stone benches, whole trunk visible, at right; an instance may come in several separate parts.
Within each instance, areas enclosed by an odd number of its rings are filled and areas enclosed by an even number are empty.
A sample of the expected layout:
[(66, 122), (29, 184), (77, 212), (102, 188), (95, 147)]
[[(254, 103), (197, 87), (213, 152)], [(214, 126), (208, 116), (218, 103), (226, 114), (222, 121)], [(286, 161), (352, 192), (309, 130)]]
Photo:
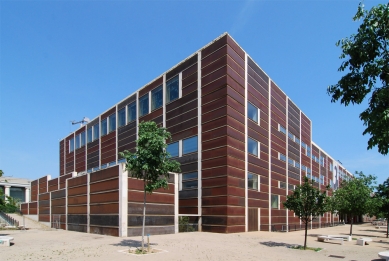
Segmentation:
[(342, 181), (333, 194), (333, 208), (339, 214), (350, 217), (350, 236), (353, 232), (354, 217), (371, 215), (377, 206), (377, 201), (373, 198), (373, 183), (376, 177), (366, 176), (362, 171), (356, 171), (355, 174), (350, 180)]

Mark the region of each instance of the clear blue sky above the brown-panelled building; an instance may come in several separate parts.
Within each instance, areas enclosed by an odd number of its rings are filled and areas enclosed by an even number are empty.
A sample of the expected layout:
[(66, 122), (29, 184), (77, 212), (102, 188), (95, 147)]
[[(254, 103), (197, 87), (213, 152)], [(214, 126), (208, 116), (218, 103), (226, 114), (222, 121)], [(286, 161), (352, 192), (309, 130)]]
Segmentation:
[[(312, 138), (350, 172), (382, 183), (359, 114), (331, 103), (336, 41), (357, 32), (359, 1), (0, 1), (0, 169), (59, 173), (59, 141), (224, 32), (311, 119)], [(365, 0), (366, 8), (379, 1)]]

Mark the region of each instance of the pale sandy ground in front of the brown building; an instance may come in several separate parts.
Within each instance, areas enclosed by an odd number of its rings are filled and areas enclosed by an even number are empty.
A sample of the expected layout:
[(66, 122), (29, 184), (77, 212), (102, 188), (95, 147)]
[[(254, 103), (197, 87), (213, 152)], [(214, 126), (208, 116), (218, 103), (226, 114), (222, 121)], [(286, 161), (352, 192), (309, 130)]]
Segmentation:
[[(380, 260), (378, 252), (389, 251), (384, 229), (371, 224), (354, 225), (353, 237), (370, 237), (373, 242), (358, 246), (356, 241), (318, 242), (318, 234), (347, 234), (350, 226), (308, 231), (308, 246), (320, 252), (290, 249), (304, 243), (304, 231), (248, 232), (214, 234), (205, 232), (151, 236), (157, 254), (130, 255), (129, 247), (140, 246), (141, 237), (118, 238), (64, 230), (48, 229), (27, 221), (29, 230), (0, 230), (0, 235), (14, 237), (11, 247), (0, 247), (0, 260)], [(121, 252), (122, 251), (122, 252)], [(338, 256), (336, 257), (331, 257)], [(344, 258), (339, 258), (344, 257)]]

